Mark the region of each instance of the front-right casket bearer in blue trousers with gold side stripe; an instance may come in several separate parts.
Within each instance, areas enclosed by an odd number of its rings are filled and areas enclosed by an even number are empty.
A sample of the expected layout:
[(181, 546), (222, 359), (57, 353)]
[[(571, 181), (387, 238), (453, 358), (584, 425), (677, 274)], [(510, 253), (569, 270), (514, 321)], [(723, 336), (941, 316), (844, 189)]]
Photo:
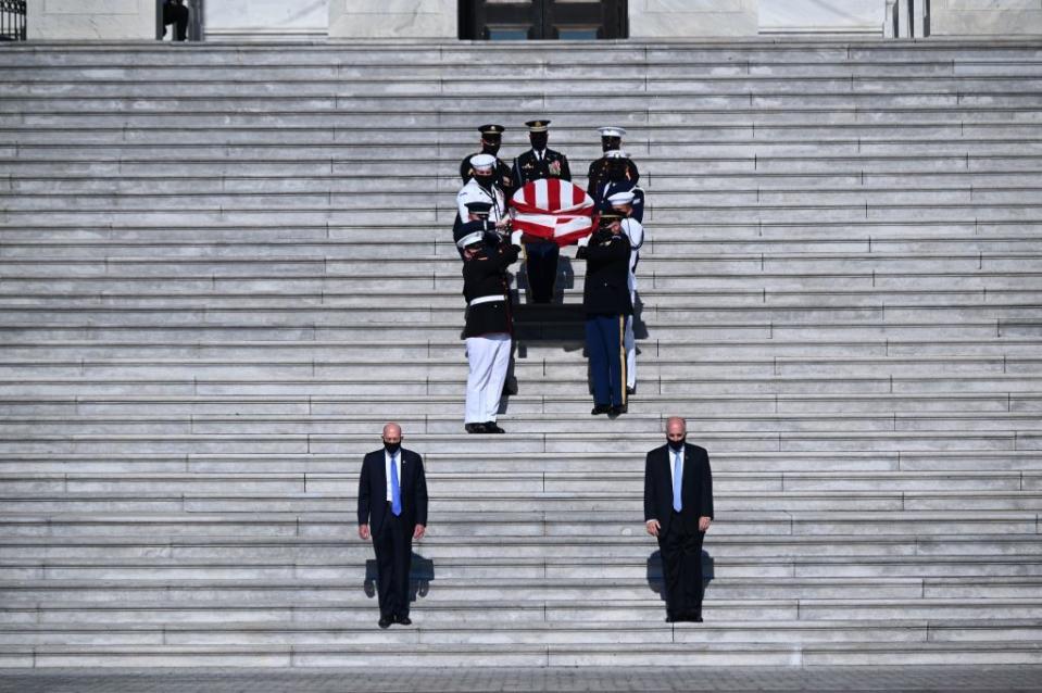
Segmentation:
[(626, 318), (633, 314), (629, 293), (629, 239), (622, 215), (601, 214), (598, 230), (579, 241), (578, 260), (586, 260), (582, 310), (586, 313), (586, 351), (593, 381), (592, 415), (625, 414)]

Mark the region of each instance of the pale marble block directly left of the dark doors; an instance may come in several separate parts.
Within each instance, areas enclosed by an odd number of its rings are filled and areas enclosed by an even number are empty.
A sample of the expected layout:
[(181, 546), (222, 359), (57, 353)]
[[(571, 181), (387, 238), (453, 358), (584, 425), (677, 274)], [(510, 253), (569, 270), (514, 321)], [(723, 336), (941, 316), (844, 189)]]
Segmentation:
[(329, 0), (330, 38), (455, 38), (456, 0)]

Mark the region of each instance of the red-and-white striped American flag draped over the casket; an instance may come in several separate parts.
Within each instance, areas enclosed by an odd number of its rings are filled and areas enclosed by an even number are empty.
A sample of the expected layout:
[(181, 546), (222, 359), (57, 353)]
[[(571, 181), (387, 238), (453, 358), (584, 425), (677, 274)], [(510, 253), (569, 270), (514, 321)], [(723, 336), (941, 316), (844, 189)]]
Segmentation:
[(560, 178), (525, 184), (511, 199), (511, 207), (515, 230), (557, 245), (575, 243), (593, 229), (593, 200), (582, 188)]

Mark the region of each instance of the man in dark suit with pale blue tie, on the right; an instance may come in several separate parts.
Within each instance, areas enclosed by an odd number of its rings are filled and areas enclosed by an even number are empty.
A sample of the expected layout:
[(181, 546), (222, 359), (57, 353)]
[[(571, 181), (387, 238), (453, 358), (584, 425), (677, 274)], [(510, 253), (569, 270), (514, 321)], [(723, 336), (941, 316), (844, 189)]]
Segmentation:
[(713, 520), (713, 475), (687, 424), (666, 421), (666, 444), (644, 464), (644, 528), (658, 540), (666, 620), (702, 622), (702, 540)]

